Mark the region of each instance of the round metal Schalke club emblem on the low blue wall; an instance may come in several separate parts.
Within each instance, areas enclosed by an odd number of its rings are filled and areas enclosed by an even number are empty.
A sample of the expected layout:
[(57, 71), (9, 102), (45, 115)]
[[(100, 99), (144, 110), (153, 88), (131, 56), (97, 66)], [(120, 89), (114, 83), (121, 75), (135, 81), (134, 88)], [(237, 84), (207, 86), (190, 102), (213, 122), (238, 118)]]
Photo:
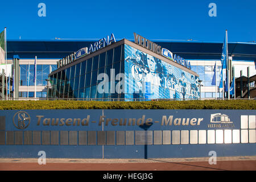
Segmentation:
[(26, 129), (30, 125), (30, 115), (25, 111), (18, 111), (18, 113), (14, 114), (13, 123), (17, 129)]

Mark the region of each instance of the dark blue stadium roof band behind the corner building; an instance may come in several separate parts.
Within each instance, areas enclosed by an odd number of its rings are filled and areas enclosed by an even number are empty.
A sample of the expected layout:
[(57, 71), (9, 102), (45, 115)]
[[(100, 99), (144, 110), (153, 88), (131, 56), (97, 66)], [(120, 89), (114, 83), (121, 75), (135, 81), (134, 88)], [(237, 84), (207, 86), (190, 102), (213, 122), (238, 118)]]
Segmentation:
[[(7, 59), (19, 55), (20, 59), (61, 59), (80, 48), (89, 47), (97, 40), (7, 40)], [(131, 40), (133, 41), (133, 40)], [(222, 42), (154, 41), (184, 59), (219, 60)], [(256, 43), (228, 43), (233, 60), (256, 60)]]

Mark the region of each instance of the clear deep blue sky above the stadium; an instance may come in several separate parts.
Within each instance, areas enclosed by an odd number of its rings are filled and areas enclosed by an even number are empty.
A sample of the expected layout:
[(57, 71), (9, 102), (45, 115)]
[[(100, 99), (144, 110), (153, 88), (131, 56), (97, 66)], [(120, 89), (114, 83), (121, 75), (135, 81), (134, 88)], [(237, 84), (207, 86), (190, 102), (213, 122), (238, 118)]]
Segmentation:
[[(38, 4), (46, 4), (46, 17)], [(210, 17), (209, 3), (217, 16)], [(154, 39), (223, 42), (256, 41), (256, 1), (2, 1), (0, 30), (7, 39), (133, 39), (133, 32)]]

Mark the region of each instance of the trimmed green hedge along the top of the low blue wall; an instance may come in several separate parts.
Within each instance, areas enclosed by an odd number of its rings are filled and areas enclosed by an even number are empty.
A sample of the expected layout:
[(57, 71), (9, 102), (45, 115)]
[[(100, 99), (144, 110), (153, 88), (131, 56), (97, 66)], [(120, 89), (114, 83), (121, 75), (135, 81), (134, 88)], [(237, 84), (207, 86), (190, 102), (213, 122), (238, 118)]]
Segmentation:
[(255, 100), (204, 101), (0, 101), (0, 110), (27, 109), (256, 109)]

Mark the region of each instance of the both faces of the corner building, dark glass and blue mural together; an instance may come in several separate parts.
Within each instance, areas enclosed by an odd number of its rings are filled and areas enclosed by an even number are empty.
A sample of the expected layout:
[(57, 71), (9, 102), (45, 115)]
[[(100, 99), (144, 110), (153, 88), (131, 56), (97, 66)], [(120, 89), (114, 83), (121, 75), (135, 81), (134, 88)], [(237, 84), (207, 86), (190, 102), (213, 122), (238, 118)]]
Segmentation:
[(122, 44), (49, 76), (49, 98), (199, 98), (199, 77)]

